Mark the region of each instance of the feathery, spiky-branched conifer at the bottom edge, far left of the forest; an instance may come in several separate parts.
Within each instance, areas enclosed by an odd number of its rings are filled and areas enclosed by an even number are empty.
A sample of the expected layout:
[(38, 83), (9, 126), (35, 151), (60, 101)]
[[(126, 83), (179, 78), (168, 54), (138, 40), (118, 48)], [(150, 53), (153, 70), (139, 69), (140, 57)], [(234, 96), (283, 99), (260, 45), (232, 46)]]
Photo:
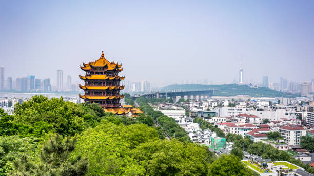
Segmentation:
[(39, 163), (23, 155), (13, 163), (14, 169), (10, 175), (85, 175), (86, 158), (77, 156), (69, 160), (75, 142), (76, 138), (67, 137), (63, 140), (60, 135), (55, 135), (44, 145)]

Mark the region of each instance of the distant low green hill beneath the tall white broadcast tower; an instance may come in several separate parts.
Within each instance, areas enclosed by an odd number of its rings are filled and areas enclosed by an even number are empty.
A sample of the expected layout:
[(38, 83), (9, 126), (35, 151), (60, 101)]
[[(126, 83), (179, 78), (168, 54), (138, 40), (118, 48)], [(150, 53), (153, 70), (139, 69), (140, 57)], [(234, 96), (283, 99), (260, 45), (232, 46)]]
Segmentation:
[(285, 97), (295, 98), (300, 94), (291, 94), (275, 91), (266, 87), (250, 88), (249, 85), (223, 84), (223, 85), (202, 85), (202, 84), (182, 84), (168, 85), (161, 91), (197, 91), (197, 90), (215, 90), (214, 96), (237, 96), (249, 95), (252, 97)]

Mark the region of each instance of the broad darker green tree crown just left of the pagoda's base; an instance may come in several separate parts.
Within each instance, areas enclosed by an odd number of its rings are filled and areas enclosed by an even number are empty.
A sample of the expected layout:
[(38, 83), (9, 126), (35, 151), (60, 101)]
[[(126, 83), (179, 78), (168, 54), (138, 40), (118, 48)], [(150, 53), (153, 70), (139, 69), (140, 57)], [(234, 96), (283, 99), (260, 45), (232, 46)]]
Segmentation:
[(56, 132), (73, 136), (89, 126), (83, 118), (85, 112), (78, 105), (63, 101), (62, 97), (49, 100), (48, 97), (35, 95), (28, 101), (17, 104), (14, 113), (14, 123), (18, 130), (27, 130), (27, 133), (32, 133), (34, 126), (44, 125), (44, 134)]

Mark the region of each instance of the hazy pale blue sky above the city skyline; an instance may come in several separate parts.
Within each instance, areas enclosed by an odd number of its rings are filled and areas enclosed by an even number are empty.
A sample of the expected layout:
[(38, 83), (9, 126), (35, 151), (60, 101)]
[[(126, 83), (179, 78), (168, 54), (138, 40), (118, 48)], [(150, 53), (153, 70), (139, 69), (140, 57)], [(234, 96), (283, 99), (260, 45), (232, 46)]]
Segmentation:
[(129, 81), (314, 78), (314, 1), (0, 1), (5, 77), (78, 81), (101, 51)]

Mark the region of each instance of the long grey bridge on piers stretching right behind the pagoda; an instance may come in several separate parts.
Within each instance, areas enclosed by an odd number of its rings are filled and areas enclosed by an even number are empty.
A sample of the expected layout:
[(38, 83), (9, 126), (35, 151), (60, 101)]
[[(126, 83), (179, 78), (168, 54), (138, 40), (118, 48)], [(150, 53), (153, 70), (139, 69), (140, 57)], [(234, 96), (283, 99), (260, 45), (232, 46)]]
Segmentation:
[(133, 96), (135, 100), (138, 97), (151, 98), (173, 98), (173, 101), (178, 101), (180, 98), (183, 99), (206, 99), (214, 93), (214, 90), (202, 90), (202, 91), (180, 91), (180, 92), (162, 92), (157, 91), (156, 93), (148, 93), (138, 96)]

